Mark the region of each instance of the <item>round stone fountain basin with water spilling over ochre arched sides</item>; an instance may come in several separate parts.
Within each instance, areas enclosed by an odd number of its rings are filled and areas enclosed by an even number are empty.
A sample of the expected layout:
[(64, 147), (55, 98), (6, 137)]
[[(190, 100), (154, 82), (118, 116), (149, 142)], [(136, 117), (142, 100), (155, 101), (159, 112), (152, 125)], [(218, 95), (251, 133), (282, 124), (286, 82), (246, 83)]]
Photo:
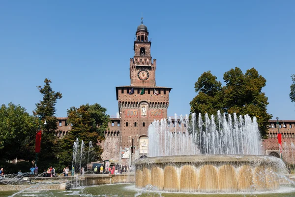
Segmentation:
[(281, 159), (261, 155), (188, 155), (139, 159), (137, 188), (160, 191), (235, 193), (279, 189)]

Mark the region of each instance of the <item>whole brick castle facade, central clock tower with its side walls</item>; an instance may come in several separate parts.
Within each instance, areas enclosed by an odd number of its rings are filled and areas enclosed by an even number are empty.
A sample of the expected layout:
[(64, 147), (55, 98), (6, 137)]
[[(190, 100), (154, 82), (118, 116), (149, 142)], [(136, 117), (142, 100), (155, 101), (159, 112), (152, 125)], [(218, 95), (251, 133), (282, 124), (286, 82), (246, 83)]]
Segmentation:
[[(104, 160), (131, 164), (135, 159), (148, 156), (148, 126), (154, 120), (167, 118), (169, 93), (172, 88), (156, 86), (156, 59), (151, 57), (151, 41), (143, 22), (136, 31), (134, 57), (130, 58), (130, 85), (116, 87), (117, 118), (111, 118), (110, 131), (105, 131), (101, 143)], [(62, 137), (71, 130), (67, 118), (58, 118), (56, 135)], [(268, 138), (263, 140), (266, 155), (280, 157), (277, 130), (282, 133), (283, 159), (293, 163), (295, 121), (269, 121)]]

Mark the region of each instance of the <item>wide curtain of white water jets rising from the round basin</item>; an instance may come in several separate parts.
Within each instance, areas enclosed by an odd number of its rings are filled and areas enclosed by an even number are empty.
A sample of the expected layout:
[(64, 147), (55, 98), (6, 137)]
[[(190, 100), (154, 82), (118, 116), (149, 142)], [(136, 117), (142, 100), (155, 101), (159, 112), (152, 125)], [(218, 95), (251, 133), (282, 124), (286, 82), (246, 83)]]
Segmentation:
[(205, 114), (205, 122), (199, 114), (179, 117), (174, 123), (168, 120), (154, 121), (148, 127), (149, 157), (174, 155), (261, 155), (261, 137), (256, 117), (237, 116), (217, 112), (217, 117)]

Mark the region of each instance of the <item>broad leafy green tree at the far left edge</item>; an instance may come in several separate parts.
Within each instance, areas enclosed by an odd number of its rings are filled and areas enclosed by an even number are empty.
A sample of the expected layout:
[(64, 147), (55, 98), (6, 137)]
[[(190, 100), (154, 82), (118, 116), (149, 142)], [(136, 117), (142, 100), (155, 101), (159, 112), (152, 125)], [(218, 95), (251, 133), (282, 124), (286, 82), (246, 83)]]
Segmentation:
[[(35, 121), (35, 122), (34, 122)], [(36, 120), (20, 105), (8, 103), (0, 107), (0, 155), (6, 160), (34, 159)]]

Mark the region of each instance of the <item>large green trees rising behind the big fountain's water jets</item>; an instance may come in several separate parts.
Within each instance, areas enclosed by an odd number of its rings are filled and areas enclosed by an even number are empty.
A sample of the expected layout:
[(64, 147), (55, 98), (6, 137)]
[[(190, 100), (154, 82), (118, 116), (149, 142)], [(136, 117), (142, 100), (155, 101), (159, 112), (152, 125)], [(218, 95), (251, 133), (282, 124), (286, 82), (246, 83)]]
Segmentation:
[(216, 80), (210, 71), (204, 72), (195, 83), (198, 95), (190, 102), (191, 113), (216, 114), (235, 113), (256, 116), (262, 136), (266, 135), (268, 120), (272, 117), (266, 112), (268, 99), (262, 92), (266, 79), (255, 68), (246, 71), (230, 69), (223, 75), (225, 86)]

